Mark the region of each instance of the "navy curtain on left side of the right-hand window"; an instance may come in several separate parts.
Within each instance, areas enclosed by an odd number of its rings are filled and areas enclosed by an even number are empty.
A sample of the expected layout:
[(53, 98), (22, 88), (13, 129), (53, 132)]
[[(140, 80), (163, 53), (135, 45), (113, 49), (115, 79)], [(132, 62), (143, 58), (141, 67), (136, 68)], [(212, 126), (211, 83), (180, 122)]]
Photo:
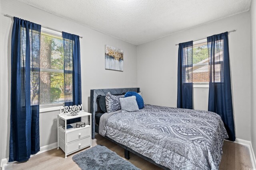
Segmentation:
[(179, 43), (177, 107), (193, 109), (193, 41)]

